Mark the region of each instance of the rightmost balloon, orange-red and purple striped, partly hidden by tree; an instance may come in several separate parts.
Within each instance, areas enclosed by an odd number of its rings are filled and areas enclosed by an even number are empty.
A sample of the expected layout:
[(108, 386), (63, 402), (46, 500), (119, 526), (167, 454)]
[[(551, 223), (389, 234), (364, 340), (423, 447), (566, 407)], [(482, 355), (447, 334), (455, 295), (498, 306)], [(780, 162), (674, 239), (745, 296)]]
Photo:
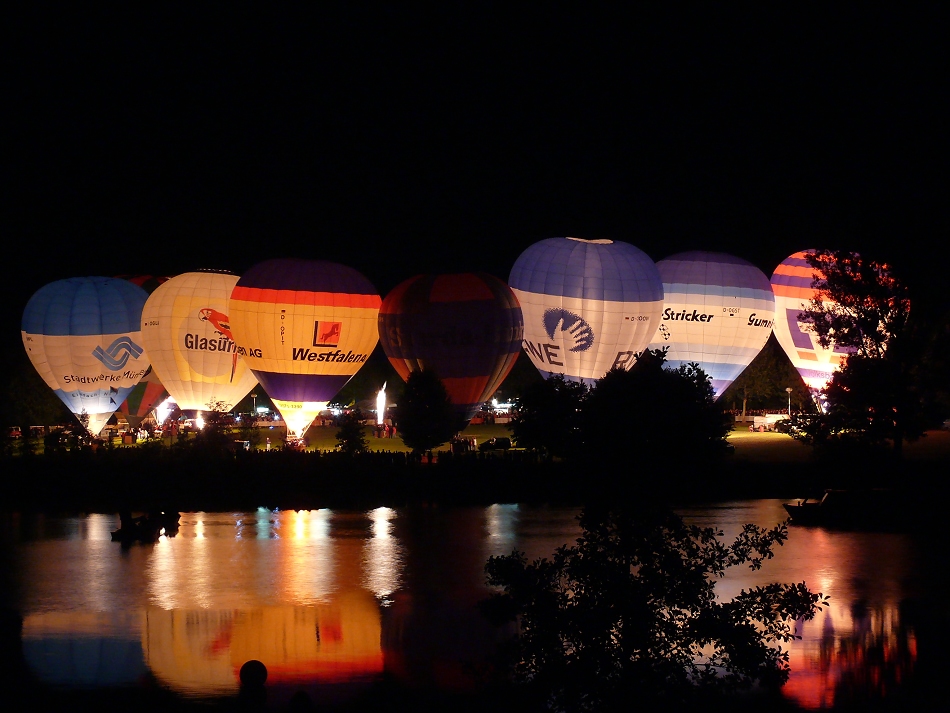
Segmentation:
[(817, 335), (798, 321), (816, 294), (811, 285), (818, 271), (805, 259), (811, 252), (804, 250), (790, 255), (772, 273), (775, 293), (772, 331), (805, 384), (813, 391), (820, 391), (852, 350), (834, 344), (826, 349), (818, 343)]

